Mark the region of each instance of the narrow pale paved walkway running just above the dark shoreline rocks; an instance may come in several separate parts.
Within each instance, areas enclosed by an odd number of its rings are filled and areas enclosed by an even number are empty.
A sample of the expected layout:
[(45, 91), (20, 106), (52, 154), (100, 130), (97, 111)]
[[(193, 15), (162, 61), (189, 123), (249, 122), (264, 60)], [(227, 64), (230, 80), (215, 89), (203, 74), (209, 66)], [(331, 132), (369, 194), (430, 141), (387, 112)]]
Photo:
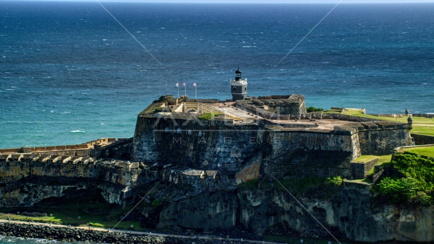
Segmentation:
[[(38, 223), (38, 222), (27, 222), (27, 221), (15, 221), (15, 220), (0, 220), (0, 223), (15, 223), (15, 224), (23, 224), (23, 225), (45, 225), (45, 226), (51, 226), (51, 227), (61, 227), (61, 228), (75, 228), (75, 229), (83, 229), (83, 230), (95, 230), (95, 231), (104, 231), (108, 232), (110, 229), (104, 229), (104, 228), (92, 228), (92, 227), (81, 227), (81, 226), (71, 226), (70, 225), (58, 225), (58, 224), (47, 224), (47, 223)], [(209, 239), (209, 240), (232, 240), (232, 241), (245, 241), (245, 242), (251, 242), (251, 243), (267, 243), (267, 244), (281, 244), (279, 242), (270, 242), (270, 241), (263, 241), (263, 240), (246, 240), (246, 239), (236, 239), (236, 238), (223, 238), (223, 237), (215, 237), (215, 236), (208, 236), (208, 235), (195, 235), (195, 236), (188, 236), (188, 235), (171, 235), (171, 234), (162, 234), (162, 233), (152, 233), (152, 232), (141, 232), (141, 231), (126, 231), (126, 230), (110, 230), (110, 232), (119, 232), (119, 233), (129, 233), (129, 234), (136, 234), (136, 235), (156, 235), (156, 236), (162, 236), (162, 237), (175, 237), (175, 238), (183, 238), (183, 239)]]

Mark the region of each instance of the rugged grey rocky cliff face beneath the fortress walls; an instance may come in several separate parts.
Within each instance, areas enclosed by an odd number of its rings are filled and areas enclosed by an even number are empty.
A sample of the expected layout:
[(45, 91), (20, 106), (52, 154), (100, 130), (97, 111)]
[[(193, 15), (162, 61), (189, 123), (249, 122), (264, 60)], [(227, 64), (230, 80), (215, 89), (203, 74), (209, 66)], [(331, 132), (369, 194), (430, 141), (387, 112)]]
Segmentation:
[[(300, 200), (321, 223), (350, 240), (433, 240), (433, 207), (374, 206), (368, 188), (346, 182), (339, 191)], [(158, 228), (211, 229), (241, 224), (256, 234), (281, 223), (296, 232), (319, 226), (286, 192), (253, 188), (205, 192), (171, 201), (161, 208), (159, 218)]]

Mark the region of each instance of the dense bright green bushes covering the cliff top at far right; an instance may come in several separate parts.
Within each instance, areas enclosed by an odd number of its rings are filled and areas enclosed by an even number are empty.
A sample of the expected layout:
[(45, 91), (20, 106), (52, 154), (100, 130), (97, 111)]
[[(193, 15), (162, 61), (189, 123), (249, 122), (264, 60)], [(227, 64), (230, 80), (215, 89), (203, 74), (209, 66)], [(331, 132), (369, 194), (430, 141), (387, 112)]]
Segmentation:
[(434, 163), (426, 158), (409, 152), (395, 155), (388, 177), (373, 188), (375, 197), (390, 203), (432, 204)]

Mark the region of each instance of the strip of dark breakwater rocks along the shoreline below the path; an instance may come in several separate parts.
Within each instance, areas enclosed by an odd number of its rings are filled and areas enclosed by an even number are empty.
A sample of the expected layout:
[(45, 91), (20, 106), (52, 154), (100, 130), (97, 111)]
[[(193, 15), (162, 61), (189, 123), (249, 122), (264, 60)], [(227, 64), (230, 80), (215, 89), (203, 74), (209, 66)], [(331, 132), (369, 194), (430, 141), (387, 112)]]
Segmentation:
[[(103, 242), (103, 243), (196, 243), (220, 244), (241, 243), (240, 240), (219, 240), (202, 238), (179, 238), (158, 235), (136, 235), (126, 232), (104, 232), (84, 230), (79, 228), (50, 227), (45, 225), (25, 225), (16, 223), (0, 224), (0, 235), (18, 236), (25, 238), (44, 238), (60, 241)], [(104, 238), (104, 239), (103, 239)], [(245, 241), (243, 242), (245, 243)]]

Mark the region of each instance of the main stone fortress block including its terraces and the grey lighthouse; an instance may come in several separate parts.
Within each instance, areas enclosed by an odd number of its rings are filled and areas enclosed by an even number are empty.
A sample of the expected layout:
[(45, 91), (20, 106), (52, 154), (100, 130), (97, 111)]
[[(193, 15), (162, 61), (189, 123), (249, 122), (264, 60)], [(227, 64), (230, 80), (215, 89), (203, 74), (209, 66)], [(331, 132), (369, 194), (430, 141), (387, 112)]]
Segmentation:
[[(239, 69), (231, 89), (233, 99), (223, 102), (172, 96), (154, 101), (138, 115), (132, 159), (218, 171), (236, 182), (260, 176), (354, 178), (352, 162), (359, 156), (414, 145), (411, 124), (307, 113), (302, 95), (247, 96)], [(200, 118), (208, 112), (221, 115)]]

